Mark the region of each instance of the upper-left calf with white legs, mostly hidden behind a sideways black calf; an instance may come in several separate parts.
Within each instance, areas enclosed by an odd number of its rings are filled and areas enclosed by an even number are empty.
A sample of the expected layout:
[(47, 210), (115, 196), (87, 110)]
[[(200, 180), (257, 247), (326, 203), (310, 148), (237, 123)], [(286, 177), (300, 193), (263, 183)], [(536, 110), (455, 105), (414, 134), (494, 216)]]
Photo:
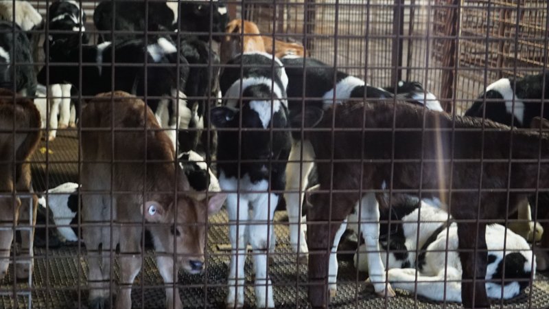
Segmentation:
[[(73, 0), (54, 1), (48, 9), (49, 36), (48, 44), (44, 44), (44, 54), (49, 55), (49, 49), (52, 51), (62, 47), (71, 48), (70, 43), (78, 42), (81, 38), (82, 44), (89, 43), (89, 37), (86, 34), (84, 23), (86, 23), (86, 14), (80, 9), (80, 5)], [(80, 42), (78, 42), (80, 43)], [(49, 57), (52, 60), (52, 57)], [(75, 115), (79, 114), (80, 104), (73, 104), (71, 100), (71, 84), (50, 84), (49, 91), (49, 133), (48, 139), (54, 140), (58, 128), (74, 127), (76, 117), (71, 119), (71, 108), (74, 108)], [(59, 115), (59, 119), (58, 119)], [(46, 115), (43, 115), (43, 120)], [(48, 119), (46, 119), (48, 120)], [(45, 126), (45, 123), (43, 123)]]

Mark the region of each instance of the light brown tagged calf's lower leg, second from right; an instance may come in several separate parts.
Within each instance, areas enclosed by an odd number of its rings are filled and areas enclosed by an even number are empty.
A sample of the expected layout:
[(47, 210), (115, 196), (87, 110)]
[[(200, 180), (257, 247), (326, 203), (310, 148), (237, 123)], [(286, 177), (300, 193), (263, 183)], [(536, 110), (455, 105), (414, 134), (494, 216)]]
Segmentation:
[(120, 276), (115, 308), (132, 308), (132, 284), (141, 271), (141, 227), (120, 227)]

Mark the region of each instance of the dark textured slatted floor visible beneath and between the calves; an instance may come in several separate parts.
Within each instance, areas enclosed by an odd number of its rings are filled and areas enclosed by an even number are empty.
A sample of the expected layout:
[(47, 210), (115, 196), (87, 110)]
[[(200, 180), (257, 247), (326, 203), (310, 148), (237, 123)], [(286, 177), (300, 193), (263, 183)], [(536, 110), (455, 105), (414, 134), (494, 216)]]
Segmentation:
[[(45, 146), (43, 143), (42, 146)], [(58, 139), (49, 144), (51, 152), (47, 155), (49, 164), (45, 161), (46, 152), (36, 152), (33, 160), (34, 186), (43, 190), (46, 185), (54, 187), (66, 181), (78, 181), (75, 160), (78, 158), (78, 140), (75, 133), (61, 133)], [(67, 163), (72, 161), (72, 163)], [(47, 173), (46, 173), (47, 169)], [(49, 177), (46, 179), (45, 175)], [(281, 219), (283, 213), (277, 214)], [(218, 251), (218, 244), (227, 244), (228, 228), (226, 213), (211, 218), (209, 229), (209, 258), (207, 271), (203, 275), (180, 275), (180, 295), (184, 308), (224, 308), (226, 295), (226, 273), (229, 256)], [(296, 255), (291, 253), (288, 229), (283, 222), (275, 226), (277, 233), (277, 250), (274, 262), (270, 266), (270, 275), (274, 284), (274, 301), (277, 308), (307, 308), (307, 269), (305, 265), (296, 267)], [(145, 267), (134, 285), (132, 301), (134, 308), (164, 308), (165, 294), (159, 286), (161, 277), (156, 271), (149, 251), (145, 258)], [(86, 259), (85, 249), (77, 246), (61, 247), (60, 249), (37, 249), (34, 262), (34, 277), (32, 286), (32, 308), (86, 308)], [(251, 273), (251, 258), (246, 260), (246, 308), (253, 308), (253, 275)], [(352, 264), (340, 262), (338, 295), (332, 299), (333, 308), (461, 308), (458, 304), (438, 304), (425, 299), (414, 299), (414, 295), (397, 290), (397, 297), (382, 299), (375, 297), (371, 287), (366, 284), (356, 284), (357, 273)], [(364, 274), (359, 274), (359, 281)], [(28, 290), (27, 284), (12, 283), (12, 275), (8, 275), (1, 284), (3, 291)], [(143, 288), (141, 288), (143, 284)], [(146, 286), (155, 286), (148, 288)], [(191, 286), (191, 287), (189, 287)], [(530, 297), (531, 296), (531, 297)], [(17, 304), (16, 304), (17, 301)], [(538, 274), (532, 289), (511, 301), (493, 301), (493, 308), (549, 308), (549, 277)], [(17, 297), (0, 297), (0, 308), (27, 308), (27, 299)]]

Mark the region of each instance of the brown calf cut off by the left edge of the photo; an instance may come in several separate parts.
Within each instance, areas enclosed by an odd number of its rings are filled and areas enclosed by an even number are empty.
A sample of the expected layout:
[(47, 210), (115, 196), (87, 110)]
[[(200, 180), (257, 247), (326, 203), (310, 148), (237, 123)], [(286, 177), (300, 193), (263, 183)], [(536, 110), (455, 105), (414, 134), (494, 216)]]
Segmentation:
[[(16, 277), (22, 279), (32, 271), (32, 239), (36, 223), (38, 199), (32, 193), (30, 164), (40, 141), (40, 113), (32, 100), (15, 98), (11, 91), (0, 89), (0, 279), (10, 264), (13, 225), (18, 220), (29, 225), (32, 211), (32, 231), (21, 231), (21, 251), (29, 254), (30, 264), (16, 267)], [(21, 202), (21, 195), (30, 201)], [(29, 267), (29, 265), (31, 267)]]

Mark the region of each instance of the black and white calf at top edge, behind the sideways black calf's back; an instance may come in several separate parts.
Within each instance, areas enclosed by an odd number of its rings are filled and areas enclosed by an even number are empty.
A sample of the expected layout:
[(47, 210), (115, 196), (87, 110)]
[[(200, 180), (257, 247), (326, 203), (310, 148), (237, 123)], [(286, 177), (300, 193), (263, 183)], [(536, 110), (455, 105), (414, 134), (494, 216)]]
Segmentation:
[[(149, 31), (196, 32), (202, 41), (209, 41), (209, 33), (215, 41), (229, 21), (226, 6), (215, 1), (150, 1), (148, 15), (145, 16), (145, 3), (139, 1), (102, 1), (95, 8), (93, 23), (100, 34), (100, 42), (113, 41), (110, 32), (114, 29), (135, 34), (115, 34), (116, 41), (143, 38), (145, 25)], [(114, 18), (113, 18), (114, 17)], [(147, 17), (147, 19), (145, 19)], [(178, 21), (178, 19), (180, 19)], [(211, 21), (211, 23), (210, 23)], [(210, 25), (211, 24), (211, 25)], [(140, 34), (139, 32), (143, 32)]]

